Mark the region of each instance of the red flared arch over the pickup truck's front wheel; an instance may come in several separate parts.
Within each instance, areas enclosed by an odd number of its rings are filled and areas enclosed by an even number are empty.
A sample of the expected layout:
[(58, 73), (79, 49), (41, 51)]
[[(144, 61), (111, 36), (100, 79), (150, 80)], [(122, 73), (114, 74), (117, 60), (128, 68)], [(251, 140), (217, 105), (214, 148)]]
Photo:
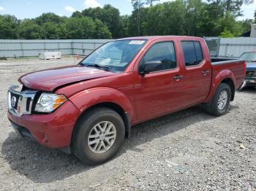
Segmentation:
[(128, 112), (130, 119), (134, 117), (132, 104), (124, 93), (110, 87), (95, 87), (88, 90), (80, 91), (69, 98), (80, 112), (86, 111), (91, 106), (101, 103), (113, 103), (121, 106), (124, 112)]

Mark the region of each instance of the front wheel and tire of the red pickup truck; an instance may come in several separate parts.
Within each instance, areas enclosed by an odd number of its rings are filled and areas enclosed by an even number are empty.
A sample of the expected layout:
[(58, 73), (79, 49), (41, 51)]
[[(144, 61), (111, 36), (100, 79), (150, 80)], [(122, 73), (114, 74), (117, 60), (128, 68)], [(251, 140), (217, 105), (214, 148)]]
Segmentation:
[[(108, 123), (107, 125), (106, 122)], [(107, 126), (105, 132), (101, 133), (99, 127), (104, 129), (105, 125)], [(116, 130), (116, 133), (107, 135), (114, 132), (114, 130)], [(113, 139), (115, 134), (116, 138)], [(97, 165), (105, 163), (118, 152), (124, 142), (124, 134), (124, 121), (117, 112), (104, 107), (92, 109), (86, 112), (75, 126), (75, 132), (72, 137), (72, 153), (84, 164)], [(100, 137), (101, 135), (102, 137)], [(93, 138), (89, 139), (89, 136)], [(94, 136), (97, 136), (97, 138), (94, 138)], [(108, 139), (109, 137), (111, 139)], [(89, 144), (89, 141), (91, 143), (97, 141), (97, 143)], [(105, 147), (103, 147), (103, 144)], [(110, 146), (110, 144), (112, 145)]]

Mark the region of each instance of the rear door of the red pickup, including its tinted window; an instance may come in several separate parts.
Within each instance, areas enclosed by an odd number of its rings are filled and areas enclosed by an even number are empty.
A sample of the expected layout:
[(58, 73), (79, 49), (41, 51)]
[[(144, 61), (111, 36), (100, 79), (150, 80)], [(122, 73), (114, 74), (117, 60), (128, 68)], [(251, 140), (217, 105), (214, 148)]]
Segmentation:
[(181, 41), (184, 55), (184, 103), (189, 106), (204, 101), (211, 86), (211, 61), (206, 59), (198, 41)]

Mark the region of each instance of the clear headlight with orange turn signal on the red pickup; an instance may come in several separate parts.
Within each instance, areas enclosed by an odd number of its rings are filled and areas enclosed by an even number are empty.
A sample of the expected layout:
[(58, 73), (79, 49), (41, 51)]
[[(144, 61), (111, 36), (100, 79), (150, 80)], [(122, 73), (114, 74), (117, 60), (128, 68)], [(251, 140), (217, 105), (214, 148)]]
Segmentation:
[(34, 109), (36, 112), (53, 112), (61, 104), (67, 101), (65, 95), (57, 95), (54, 93), (42, 93), (37, 101), (37, 105)]

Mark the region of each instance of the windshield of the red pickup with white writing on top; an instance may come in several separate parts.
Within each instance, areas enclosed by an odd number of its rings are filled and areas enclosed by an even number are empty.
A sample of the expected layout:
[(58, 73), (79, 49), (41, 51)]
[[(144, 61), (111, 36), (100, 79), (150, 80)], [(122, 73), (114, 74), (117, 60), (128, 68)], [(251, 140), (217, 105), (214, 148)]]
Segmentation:
[(146, 40), (108, 42), (92, 52), (82, 64), (110, 71), (124, 71), (145, 43)]

